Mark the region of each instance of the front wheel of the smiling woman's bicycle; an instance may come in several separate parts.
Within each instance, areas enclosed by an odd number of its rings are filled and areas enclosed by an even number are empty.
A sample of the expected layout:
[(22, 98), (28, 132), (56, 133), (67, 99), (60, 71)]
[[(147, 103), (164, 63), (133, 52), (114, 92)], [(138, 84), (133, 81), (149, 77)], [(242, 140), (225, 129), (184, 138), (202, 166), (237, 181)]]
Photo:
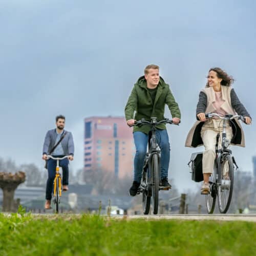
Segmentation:
[(233, 193), (234, 166), (229, 154), (223, 156), (218, 182), (218, 205), (221, 214), (225, 214), (229, 208)]

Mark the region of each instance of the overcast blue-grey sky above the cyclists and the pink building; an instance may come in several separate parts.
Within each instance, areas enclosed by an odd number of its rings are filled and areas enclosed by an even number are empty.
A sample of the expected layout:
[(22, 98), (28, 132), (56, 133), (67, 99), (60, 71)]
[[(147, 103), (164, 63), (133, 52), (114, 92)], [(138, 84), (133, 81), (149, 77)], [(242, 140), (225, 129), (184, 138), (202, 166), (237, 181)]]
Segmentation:
[[(255, 11), (253, 0), (2, 0), (0, 156), (42, 168), (45, 134), (63, 114), (75, 140), (71, 166), (81, 168), (83, 118), (123, 116), (133, 84), (155, 63), (182, 113), (181, 125), (168, 129), (169, 178), (180, 189), (195, 187), (186, 164), (204, 148), (184, 142), (209, 68), (233, 75), (255, 119)], [(243, 126), (246, 148), (233, 153), (241, 169), (251, 171), (256, 129)]]

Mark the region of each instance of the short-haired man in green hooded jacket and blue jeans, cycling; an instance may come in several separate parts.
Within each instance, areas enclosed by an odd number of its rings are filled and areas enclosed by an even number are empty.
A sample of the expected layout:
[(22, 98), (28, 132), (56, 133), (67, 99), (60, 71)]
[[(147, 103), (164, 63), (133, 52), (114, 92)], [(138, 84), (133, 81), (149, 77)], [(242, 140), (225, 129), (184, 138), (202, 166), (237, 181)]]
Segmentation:
[[(140, 77), (135, 83), (132, 93), (125, 106), (125, 118), (127, 124), (133, 125), (136, 120), (144, 118), (147, 121), (151, 117), (157, 117), (157, 120), (164, 119), (165, 104), (168, 105), (173, 117), (173, 122), (180, 122), (180, 109), (174, 99), (169, 86), (159, 76), (159, 67), (157, 65), (148, 65), (144, 70), (144, 76)], [(136, 111), (135, 117), (134, 112)], [(136, 196), (140, 186), (143, 162), (146, 154), (148, 133), (151, 128), (148, 126), (135, 126), (133, 130), (136, 155), (134, 158), (134, 181), (130, 188), (130, 195)], [(156, 136), (161, 148), (161, 185), (169, 187), (168, 167), (170, 160), (170, 144), (165, 124), (157, 126)]]

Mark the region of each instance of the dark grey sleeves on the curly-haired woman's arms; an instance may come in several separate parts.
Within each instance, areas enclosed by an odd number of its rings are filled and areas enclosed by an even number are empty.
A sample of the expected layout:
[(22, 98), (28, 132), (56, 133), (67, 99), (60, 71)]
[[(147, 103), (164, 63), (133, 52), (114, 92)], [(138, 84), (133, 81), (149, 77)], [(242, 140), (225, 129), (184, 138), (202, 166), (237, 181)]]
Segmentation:
[[(247, 112), (247, 110), (245, 109), (244, 105), (240, 102), (237, 94), (234, 92), (234, 89), (231, 89), (231, 91), (230, 91), (230, 98), (231, 98), (232, 108), (239, 115), (241, 115), (243, 117), (245, 117), (245, 116), (250, 117), (250, 115)], [(199, 94), (199, 101), (198, 101), (198, 104), (197, 104), (197, 115), (199, 113), (205, 113), (206, 107), (207, 107), (207, 96), (204, 92), (201, 91), (200, 94)], [(197, 119), (198, 119), (198, 117), (197, 117)]]

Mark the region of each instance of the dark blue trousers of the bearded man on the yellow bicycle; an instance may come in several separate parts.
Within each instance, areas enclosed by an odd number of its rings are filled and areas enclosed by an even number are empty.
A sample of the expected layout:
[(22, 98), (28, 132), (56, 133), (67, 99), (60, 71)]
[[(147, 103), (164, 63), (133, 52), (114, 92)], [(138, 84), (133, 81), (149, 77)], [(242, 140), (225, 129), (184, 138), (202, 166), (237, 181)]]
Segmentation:
[[(63, 156), (56, 156), (63, 157)], [(52, 189), (53, 181), (56, 174), (56, 164), (57, 160), (49, 159), (47, 160), (47, 170), (48, 170), (48, 180), (46, 183), (46, 200), (52, 199)], [(65, 158), (59, 160), (59, 166), (62, 167), (62, 185), (69, 184), (69, 159)]]

